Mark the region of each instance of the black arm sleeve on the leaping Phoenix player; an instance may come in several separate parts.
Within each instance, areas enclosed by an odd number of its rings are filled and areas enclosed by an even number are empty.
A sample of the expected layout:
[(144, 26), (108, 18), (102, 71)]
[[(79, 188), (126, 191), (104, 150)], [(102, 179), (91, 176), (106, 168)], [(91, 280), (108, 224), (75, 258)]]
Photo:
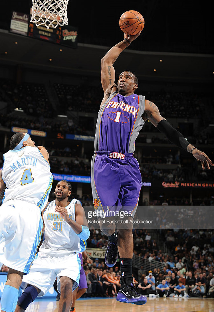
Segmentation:
[(162, 119), (159, 121), (157, 125), (157, 129), (165, 134), (167, 139), (170, 140), (173, 144), (177, 145), (181, 149), (187, 150), (187, 146), (190, 144), (183, 135), (173, 128), (173, 126), (168, 123), (168, 121)]

